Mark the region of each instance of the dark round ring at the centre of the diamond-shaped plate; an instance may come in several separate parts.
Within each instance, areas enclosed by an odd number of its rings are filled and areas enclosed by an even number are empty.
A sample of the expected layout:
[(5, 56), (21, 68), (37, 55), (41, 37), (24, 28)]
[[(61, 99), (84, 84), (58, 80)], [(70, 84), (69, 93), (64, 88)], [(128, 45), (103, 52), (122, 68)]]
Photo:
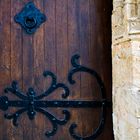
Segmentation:
[(30, 29), (34, 28), (36, 26), (36, 19), (33, 17), (26, 17), (25, 26)]

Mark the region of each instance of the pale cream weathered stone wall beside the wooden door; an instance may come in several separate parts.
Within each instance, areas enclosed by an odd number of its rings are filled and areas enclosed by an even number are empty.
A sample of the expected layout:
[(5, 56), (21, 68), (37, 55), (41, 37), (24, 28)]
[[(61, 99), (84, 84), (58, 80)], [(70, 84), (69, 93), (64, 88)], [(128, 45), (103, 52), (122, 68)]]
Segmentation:
[(140, 140), (140, 0), (114, 0), (112, 13), (115, 140)]

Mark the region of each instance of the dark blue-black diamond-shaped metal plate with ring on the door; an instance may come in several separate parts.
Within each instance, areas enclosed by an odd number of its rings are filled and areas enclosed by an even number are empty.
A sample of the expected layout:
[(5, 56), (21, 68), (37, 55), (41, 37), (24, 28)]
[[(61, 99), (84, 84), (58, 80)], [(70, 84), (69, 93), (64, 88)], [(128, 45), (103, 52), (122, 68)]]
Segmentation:
[(46, 21), (46, 16), (35, 7), (33, 2), (29, 2), (14, 19), (26, 33), (33, 34)]

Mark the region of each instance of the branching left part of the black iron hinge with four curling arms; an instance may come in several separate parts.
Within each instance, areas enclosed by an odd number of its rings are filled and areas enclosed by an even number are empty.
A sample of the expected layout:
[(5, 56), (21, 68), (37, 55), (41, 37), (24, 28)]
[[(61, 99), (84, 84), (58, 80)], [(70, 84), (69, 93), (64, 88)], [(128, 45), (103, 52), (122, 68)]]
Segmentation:
[(67, 98), (69, 95), (69, 89), (63, 83), (57, 83), (57, 78), (52, 72), (45, 71), (43, 75), (44, 77), (49, 76), (52, 78), (52, 83), (45, 92), (36, 96), (36, 92), (32, 87), (30, 87), (26, 93), (27, 95), (24, 95), (24, 93), (22, 93), (22, 91), (19, 89), (18, 83), (16, 81), (13, 81), (11, 86), (5, 88), (5, 93), (12, 93), (21, 100), (10, 101), (8, 100), (8, 97), (2, 96), (0, 97), (0, 109), (6, 111), (9, 107), (21, 108), (13, 114), (4, 115), (6, 119), (12, 120), (13, 125), (16, 127), (18, 126), (17, 121), (22, 113), (27, 112), (28, 118), (30, 120), (33, 120), (35, 118), (37, 112), (42, 113), (49, 119), (53, 126), (52, 130), (45, 133), (47, 137), (50, 137), (56, 134), (58, 125), (64, 125), (68, 122), (68, 120), (70, 119), (70, 113), (67, 110), (63, 110), (62, 114), (64, 114), (64, 119), (57, 119), (54, 115), (44, 109), (47, 107), (57, 107), (57, 101), (40, 101), (40, 99), (49, 96), (58, 88), (62, 88), (64, 91), (64, 93), (62, 94), (62, 98)]

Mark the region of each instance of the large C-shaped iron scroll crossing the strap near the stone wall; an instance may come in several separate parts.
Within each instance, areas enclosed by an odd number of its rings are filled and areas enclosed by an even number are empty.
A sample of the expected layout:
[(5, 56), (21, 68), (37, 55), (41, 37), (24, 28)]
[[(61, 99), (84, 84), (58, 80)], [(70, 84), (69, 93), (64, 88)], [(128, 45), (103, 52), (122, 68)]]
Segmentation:
[(93, 77), (96, 78), (97, 83), (100, 87), (100, 94), (101, 94), (101, 113), (100, 113), (100, 122), (98, 127), (96, 128), (96, 130), (93, 132), (93, 134), (91, 136), (87, 136), (87, 137), (82, 137), (79, 136), (75, 133), (75, 129), (77, 127), (77, 124), (73, 123), (70, 128), (69, 128), (69, 132), (71, 134), (71, 136), (73, 138), (75, 138), (76, 140), (94, 140), (95, 138), (97, 138), (100, 133), (103, 130), (104, 124), (105, 124), (105, 108), (106, 108), (106, 99), (105, 99), (105, 87), (103, 84), (103, 81), (101, 80), (100, 76), (98, 75), (98, 73), (94, 70), (91, 70), (87, 67), (84, 67), (82, 65), (80, 65), (78, 63), (78, 59), (80, 58), (79, 55), (74, 55), (71, 59), (71, 64), (73, 66), (72, 70), (69, 72), (68, 74), (68, 81), (70, 82), (70, 84), (75, 84), (76, 81), (73, 80), (73, 76), (74, 74), (78, 73), (78, 72), (86, 72), (91, 74)]

